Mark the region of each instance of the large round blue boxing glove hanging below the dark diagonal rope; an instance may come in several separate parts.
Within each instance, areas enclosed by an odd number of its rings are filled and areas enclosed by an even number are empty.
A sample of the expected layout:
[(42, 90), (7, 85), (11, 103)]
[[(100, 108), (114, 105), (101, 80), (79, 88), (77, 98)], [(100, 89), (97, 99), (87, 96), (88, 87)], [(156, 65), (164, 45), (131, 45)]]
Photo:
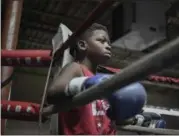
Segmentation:
[(110, 108), (108, 117), (117, 124), (134, 117), (142, 111), (147, 100), (145, 88), (140, 83), (133, 83), (119, 89), (107, 98)]

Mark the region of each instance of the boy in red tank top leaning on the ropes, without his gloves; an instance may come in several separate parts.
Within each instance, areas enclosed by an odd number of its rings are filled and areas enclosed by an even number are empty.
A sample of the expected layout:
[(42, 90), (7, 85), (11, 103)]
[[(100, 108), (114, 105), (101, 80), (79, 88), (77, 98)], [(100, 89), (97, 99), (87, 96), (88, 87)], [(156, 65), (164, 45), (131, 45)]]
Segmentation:
[[(100, 24), (93, 24), (78, 37), (77, 44), (70, 49), (70, 53), (75, 62), (65, 66), (60, 74), (56, 75), (47, 94), (49, 104), (62, 105), (67, 102), (70, 97), (66, 95), (65, 90), (69, 82), (77, 77), (93, 76), (97, 66), (111, 58), (107, 29)], [(64, 135), (114, 135), (116, 130), (106, 116), (107, 108), (105, 101), (96, 100), (68, 112), (60, 112), (59, 131)]]

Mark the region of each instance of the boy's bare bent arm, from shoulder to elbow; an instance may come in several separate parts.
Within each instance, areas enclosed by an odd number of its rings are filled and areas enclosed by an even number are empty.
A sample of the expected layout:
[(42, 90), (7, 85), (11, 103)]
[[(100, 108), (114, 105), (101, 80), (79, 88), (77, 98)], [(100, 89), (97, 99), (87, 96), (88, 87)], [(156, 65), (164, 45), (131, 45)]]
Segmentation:
[[(59, 73), (57, 71), (57, 73)], [(48, 92), (47, 102), (49, 104), (57, 104), (60, 101), (67, 99), (65, 96), (66, 85), (74, 78), (82, 76), (80, 65), (77, 63), (71, 63), (65, 66), (59, 75), (57, 75), (52, 81)]]

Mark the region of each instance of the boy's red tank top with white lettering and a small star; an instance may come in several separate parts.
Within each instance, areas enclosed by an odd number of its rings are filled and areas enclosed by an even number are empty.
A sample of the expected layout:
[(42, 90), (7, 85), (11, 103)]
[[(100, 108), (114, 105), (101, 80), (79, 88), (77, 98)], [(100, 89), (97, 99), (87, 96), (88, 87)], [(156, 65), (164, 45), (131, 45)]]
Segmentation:
[[(84, 76), (93, 76), (82, 66)], [(90, 104), (59, 113), (59, 131), (63, 135), (114, 135), (111, 121), (106, 116), (107, 103), (96, 100)]]

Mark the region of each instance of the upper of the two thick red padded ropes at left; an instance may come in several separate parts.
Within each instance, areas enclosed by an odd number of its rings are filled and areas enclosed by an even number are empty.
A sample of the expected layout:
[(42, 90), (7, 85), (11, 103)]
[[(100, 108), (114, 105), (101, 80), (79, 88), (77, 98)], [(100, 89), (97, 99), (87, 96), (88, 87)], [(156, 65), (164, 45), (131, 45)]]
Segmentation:
[(1, 50), (2, 66), (48, 67), (50, 50)]

